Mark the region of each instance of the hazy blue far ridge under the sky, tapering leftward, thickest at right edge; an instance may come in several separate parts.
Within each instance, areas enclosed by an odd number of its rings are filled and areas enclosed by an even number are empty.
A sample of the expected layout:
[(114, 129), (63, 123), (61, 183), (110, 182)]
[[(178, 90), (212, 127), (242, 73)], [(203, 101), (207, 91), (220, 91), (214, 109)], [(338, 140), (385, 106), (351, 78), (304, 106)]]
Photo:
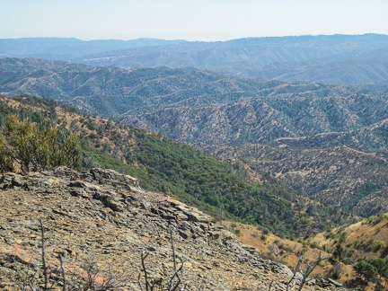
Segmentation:
[(77, 58), (94, 66), (196, 67), (287, 82), (376, 84), (388, 80), (388, 36), (320, 35), (186, 42)]

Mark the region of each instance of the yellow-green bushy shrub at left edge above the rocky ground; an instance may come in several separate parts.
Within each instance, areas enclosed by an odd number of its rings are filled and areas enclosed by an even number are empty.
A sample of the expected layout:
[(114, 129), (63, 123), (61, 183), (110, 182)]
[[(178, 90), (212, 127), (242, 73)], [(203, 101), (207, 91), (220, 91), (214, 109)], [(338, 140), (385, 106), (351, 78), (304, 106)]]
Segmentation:
[(59, 165), (74, 168), (81, 161), (78, 138), (47, 119), (39, 124), (8, 116), (0, 132), (0, 171), (40, 172)]

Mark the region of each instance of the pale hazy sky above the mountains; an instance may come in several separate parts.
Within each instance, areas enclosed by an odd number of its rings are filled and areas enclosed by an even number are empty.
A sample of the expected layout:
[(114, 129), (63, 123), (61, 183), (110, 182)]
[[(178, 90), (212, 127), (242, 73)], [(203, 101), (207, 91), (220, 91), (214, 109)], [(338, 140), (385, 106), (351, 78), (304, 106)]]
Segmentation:
[(387, 0), (0, 0), (0, 39), (388, 34)]

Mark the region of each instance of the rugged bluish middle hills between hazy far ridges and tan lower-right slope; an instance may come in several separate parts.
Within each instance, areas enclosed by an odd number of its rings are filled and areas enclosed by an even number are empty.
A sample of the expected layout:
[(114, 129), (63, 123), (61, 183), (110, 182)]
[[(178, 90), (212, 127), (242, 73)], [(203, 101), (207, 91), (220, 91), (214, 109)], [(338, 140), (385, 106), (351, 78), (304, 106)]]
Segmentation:
[(386, 93), (354, 87), (36, 59), (5, 58), (0, 69), (0, 92), (6, 95), (55, 98), (104, 117), (120, 115), (129, 125), (190, 143), (269, 143), (281, 137), (359, 130), (388, 119)]

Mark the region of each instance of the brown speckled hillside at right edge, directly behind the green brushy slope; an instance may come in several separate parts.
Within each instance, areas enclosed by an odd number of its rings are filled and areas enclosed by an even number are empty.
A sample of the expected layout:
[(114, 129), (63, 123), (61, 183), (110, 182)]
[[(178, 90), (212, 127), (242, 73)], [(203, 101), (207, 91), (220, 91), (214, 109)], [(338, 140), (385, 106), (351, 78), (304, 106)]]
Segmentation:
[(270, 145), (198, 145), (207, 154), (241, 159), (281, 183), (324, 203), (370, 216), (388, 211), (388, 160), (348, 146), (279, 148)]

